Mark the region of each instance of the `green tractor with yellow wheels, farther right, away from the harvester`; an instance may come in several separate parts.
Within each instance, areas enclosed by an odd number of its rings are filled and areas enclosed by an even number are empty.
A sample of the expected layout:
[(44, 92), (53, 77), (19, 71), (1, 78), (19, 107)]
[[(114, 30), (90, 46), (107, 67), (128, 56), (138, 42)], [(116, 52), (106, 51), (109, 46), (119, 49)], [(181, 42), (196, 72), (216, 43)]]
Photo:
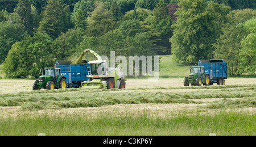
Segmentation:
[(189, 77), (184, 78), (184, 86), (201, 86), (206, 85), (212, 85), (210, 83), (210, 76), (208, 73), (205, 73), (203, 66), (193, 66), (190, 68), (190, 74)]

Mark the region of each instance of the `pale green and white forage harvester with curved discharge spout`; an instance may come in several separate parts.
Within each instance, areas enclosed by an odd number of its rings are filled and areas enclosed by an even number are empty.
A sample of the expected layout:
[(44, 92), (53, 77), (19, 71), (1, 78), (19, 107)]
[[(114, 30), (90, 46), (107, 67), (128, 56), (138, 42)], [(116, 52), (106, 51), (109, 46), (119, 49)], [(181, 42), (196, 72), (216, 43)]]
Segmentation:
[(122, 69), (108, 68), (107, 62), (102, 60), (96, 52), (86, 49), (84, 53), (90, 52), (97, 57), (97, 60), (90, 61), (90, 73), (87, 75), (88, 81), (81, 84), (86, 89), (125, 89), (126, 79)]

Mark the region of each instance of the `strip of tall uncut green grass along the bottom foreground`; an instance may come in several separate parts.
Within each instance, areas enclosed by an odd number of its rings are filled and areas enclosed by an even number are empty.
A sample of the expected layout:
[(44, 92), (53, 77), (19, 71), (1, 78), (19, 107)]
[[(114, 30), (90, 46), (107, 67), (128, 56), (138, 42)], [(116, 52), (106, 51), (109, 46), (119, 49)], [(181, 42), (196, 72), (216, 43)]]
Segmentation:
[(256, 115), (218, 112), (213, 115), (181, 113), (158, 117), (146, 113), (122, 116), (65, 114), (64, 116), (22, 115), (0, 119), (0, 135), (85, 135), (85, 136), (180, 136), (216, 133), (218, 136), (256, 135)]

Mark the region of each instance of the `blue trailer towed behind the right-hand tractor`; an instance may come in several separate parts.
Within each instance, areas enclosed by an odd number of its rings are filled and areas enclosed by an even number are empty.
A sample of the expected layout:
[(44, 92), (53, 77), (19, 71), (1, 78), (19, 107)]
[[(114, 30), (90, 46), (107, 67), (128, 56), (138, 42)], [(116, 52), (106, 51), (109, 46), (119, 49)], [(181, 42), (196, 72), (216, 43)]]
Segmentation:
[(228, 79), (228, 64), (224, 60), (199, 60), (198, 66), (204, 66), (205, 73), (210, 76), (210, 85), (225, 85), (225, 79)]

